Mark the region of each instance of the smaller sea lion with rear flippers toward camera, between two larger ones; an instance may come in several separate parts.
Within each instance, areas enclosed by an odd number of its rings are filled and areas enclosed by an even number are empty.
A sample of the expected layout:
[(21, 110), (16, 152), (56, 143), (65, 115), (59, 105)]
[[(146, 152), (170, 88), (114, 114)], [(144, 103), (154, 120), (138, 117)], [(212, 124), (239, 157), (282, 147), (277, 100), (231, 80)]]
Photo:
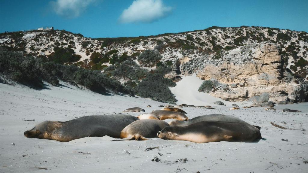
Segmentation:
[(121, 131), (121, 139), (115, 139), (112, 141), (132, 139), (148, 140), (150, 138), (157, 138), (157, 133), (167, 126), (169, 126), (169, 124), (162, 120), (140, 119), (129, 124)]

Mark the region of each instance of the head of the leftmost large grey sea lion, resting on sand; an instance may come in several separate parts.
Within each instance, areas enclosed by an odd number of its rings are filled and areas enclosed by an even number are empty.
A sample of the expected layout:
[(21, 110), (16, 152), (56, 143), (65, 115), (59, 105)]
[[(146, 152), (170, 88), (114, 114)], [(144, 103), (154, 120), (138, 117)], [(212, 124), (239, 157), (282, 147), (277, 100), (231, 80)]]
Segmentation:
[(33, 129), (24, 132), (27, 138), (50, 139), (52, 131), (59, 127), (59, 122), (44, 121)]

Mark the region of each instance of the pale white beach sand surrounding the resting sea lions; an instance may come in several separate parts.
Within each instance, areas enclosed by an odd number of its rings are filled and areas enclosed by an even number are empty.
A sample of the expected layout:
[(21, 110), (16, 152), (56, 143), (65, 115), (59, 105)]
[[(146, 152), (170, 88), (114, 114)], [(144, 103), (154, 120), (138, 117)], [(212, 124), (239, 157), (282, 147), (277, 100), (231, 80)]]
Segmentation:
[[(182, 81), (181, 81), (182, 82)], [(44, 120), (67, 121), (85, 115), (119, 113), (129, 107), (142, 107), (146, 112), (164, 103), (128, 96), (104, 96), (61, 82), (63, 86), (47, 86), (34, 90), (26, 86), (0, 83), (0, 172), (307, 172), (307, 131), (282, 130), (270, 122), (287, 128), (308, 130), (308, 104), (280, 105), (274, 111), (251, 108), (229, 111), (184, 107), (189, 118), (206, 114), (227, 114), (260, 126), (263, 138), (258, 143), (192, 143), (153, 139), (148, 141), (114, 141), (111, 137), (89, 137), (62, 143), (26, 138), (23, 132)], [(180, 82), (178, 86), (180, 86)], [(178, 91), (176, 91), (178, 92)], [(175, 92), (175, 93), (176, 93)], [(192, 91), (189, 91), (192, 92)], [(187, 92), (187, 95), (189, 94)], [(202, 93), (201, 93), (202, 94)], [(179, 101), (196, 106), (209, 103), (208, 95)], [(147, 105), (152, 105), (148, 108)], [(287, 113), (283, 108), (302, 112)], [(130, 113), (138, 115), (138, 113)], [(35, 121), (24, 121), (24, 120)], [(286, 123), (286, 124), (284, 124)], [(288, 139), (288, 142), (281, 139)], [(12, 144), (14, 143), (14, 145)], [(189, 145), (185, 147), (185, 145)], [(147, 147), (157, 147), (144, 151)], [(128, 154), (128, 151), (131, 154)], [(83, 155), (83, 153), (91, 155)], [(160, 156), (158, 153), (162, 154)], [(152, 162), (155, 156), (160, 162)], [(179, 159), (187, 158), (186, 163)], [(177, 162), (176, 162), (177, 161)], [(42, 170), (31, 167), (44, 167)], [(187, 171), (188, 170), (188, 171)], [(306, 170), (306, 171), (305, 171)]]

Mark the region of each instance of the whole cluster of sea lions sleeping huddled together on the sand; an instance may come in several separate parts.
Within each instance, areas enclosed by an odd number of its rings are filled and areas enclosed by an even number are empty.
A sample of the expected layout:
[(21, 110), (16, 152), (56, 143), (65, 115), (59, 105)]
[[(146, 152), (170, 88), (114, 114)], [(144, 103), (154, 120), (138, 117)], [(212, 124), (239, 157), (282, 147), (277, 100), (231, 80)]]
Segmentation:
[[(180, 105), (186, 106), (185, 104)], [(207, 108), (210, 106), (198, 106)], [(123, 112), (145, 111), (142, 108), (129, 108)], [(293, 110), (292, 110), (293, 111)], [(25, 131), (28, 138), (51, 139), (68, 142), (89, 136), (111, 136), (119, 140), (161, 139), (187, 140), (196, 143), (207, 142), (253, 142), (261, 139), (260, 127), (230, 115), (202, 115), (191, 120), (185, 111), (167, 105), (162, 110), (132, 115), (92, 115), (72, 119), (66, 122), (44, 121), (33, 129)], [(187, 113), (186, 113), (187, 114)], [(164, 119), (174, 119), (166, 123)], [(170, 125), (170, 126), (169, 126)], [(245, 131), (245, 133), (242, 133)]]

